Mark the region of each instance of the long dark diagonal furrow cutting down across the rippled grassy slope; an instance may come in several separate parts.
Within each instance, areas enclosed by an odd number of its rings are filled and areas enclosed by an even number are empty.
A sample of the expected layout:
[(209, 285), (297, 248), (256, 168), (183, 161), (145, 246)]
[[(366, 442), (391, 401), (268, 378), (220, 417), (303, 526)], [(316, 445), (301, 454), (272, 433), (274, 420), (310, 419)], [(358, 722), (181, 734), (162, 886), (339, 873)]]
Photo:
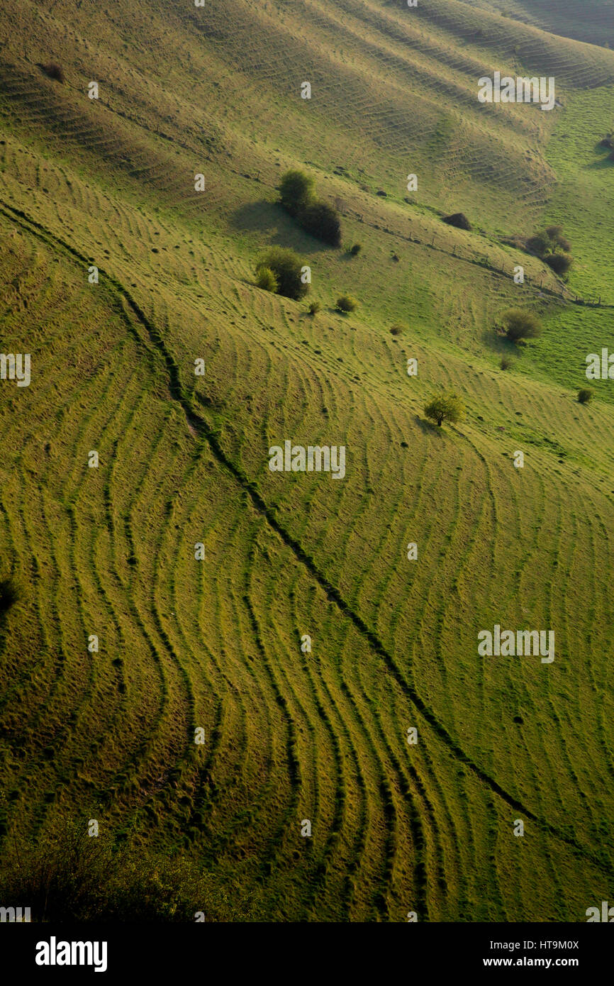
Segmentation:
[[(6, 202), (0, 199), (0, 214), (4, 215), (7, 219), (12, 222), (16, 222), (22, 226), (26, 232), (42, 240), (47, 246), (60, 246), (64, 251), (68, 252), (71, 256), (77, 258), (82, 263), (89, 265), (90, 259), (81, 253), (74, 246), (70, 246), (60, 237), (51, 233), (44, 226), (36, 223), (31, 219), (25, 212), (13, 208)], [(522, 813), (526, 818), (534, 821), (538, 824), (544, 831), (550, 833), (555, 838), (571, 846), (575, 853), (583, 856), (589, 860), (593, 866), (595, 866), (600, 871), (605, 871), (608, 876), (612, 876), (611, 868), (604, 867), (603, 861), (598, 858), (590, 849), (582, 847), (579, 843), (566, 832), (557, 828), (551, 822), (546, 821), (544, 818), (540, 818), (533, 811), (527, 809), (518, 799), (514, 798), (509, 791), (491, 777), (489, 773), (483, 770), (473, 760), (468, 753), (459, 745), (456, 740), (448, 733), (448, 731), (440, 722), (436, 714), (429, 708), (428, 705), (423, 701), (420, 694), (416, 689), (409, 684), (403, 677), (401, 671), (398, 669), (394, 658), (387, 650), (385, 645), (375, 634), (375, 632), (367, 625), (365, 620), (354, 610), (348, 603), (343, 599), (341, 593), (335, 586), (333, 586), (326, 576), (319, 570), (315, 561), (307, 553), (303, 545), (296, 540), (295, 537), (287, 530), (282, 524), (279, 523), (277, 518), (271, 509), (267, 506), (266, 502), (260, 496), (255, 484), (252, 480), (248, 478), (246, 473), (242, 471), (241, 468), (229, 458), (224, 449), (220, 445), (218, 439), (218, 433), (210, 427), (207, 421), (194, 409), (192, 397), (181, 385), (179, 368), (172, 356), (171, 352), (167, 348), (164, 338), (162, 337), (160, 331), (156, 326), (150, 321), (150, 319), (145, 315), (143, 310), (140, 308), (138, 303), (134, 300), (130, 292), (123, 286), (123, 284), (117, 280), (112, 274), (107, 273), (99, 266), (99, 273), (106, 279), (106, 281), (113, 287), (116, 294), (122, 299), (129, 311), (138, 322), (146, 329), (149, 340), (151, 344), (155, 347), (158, 354), (162, 357), (167, 372), (169, 374), (169, 390), (173, 400), (176, 400), (185, 414), (186, 420), (191, 428), (201, 436), (209, 445), (213, 455), (218, 460), (218, 462), (228, 471), (239, 483), (239, 486), (244, 490), (250, 497), (251, 502), (254, 507), (267, 521), (270, 528), (272, 528), (278, 536), (283, 540), (283, 542), (291, 549), (295, 557), (301, 562), (301, 564), (307, 569), (309, 575), (314, 579), (319, 587), (326, 593), (327, 598), (334, 602), (341, 613), (345, 615), (356, 627), (361, 636), (366, 638), (369, 642), (370, 647), (375, 652), (377, 657), (382, 661), (383, 665), (387, 669), (390, 676), (397, 683), (402, 694), (404, 694), (415, 706), (418, 712), (422, 715), (424, 720), (433, 729), (435, 734), (442, 740), (443, 744), (454, 754), (454, 756), (471, 771), (484, 785), (486, 785), (491, 791), (498, 795), (502, 801), (509, 805), (514, 811)], [(136, 331), (132, 328), (135, 336), (138, 338), (141, 345), (144, 344), (144, 340)], [(206, 399), (196, 394), (196, 399), (200, 404), (206, 406)]]

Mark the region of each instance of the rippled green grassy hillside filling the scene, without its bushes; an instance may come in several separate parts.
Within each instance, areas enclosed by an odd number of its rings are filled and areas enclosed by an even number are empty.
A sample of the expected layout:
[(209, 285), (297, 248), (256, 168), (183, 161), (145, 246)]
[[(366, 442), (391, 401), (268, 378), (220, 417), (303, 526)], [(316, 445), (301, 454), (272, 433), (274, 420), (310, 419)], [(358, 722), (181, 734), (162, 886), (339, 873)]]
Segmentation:
[[(576, 392), (612, 338), (614, 53), (564, 7), (547, 34), (456, 0), (3, 6), (0, 348), (33, 366), (0, 382), (5, 852), (97, 818), (202, 870), (214, 920), (607, 899), (614, 403)], [(562, 106), (482, 106), (497, 68)], [(276, 203), (289, 167), (357, 257)], [(567, 287), (510, 245), (549, 223)], [(254, 286), (269, 245), (317, 316)], [(504, 372), (517, 304), (545, 330)], [(442, 387), (456, 427), (424, 417)], [(345, 445), (346, 478), (270, 472), (286, 439)], [(495, 623), (555, 661), (480, 657)]]

